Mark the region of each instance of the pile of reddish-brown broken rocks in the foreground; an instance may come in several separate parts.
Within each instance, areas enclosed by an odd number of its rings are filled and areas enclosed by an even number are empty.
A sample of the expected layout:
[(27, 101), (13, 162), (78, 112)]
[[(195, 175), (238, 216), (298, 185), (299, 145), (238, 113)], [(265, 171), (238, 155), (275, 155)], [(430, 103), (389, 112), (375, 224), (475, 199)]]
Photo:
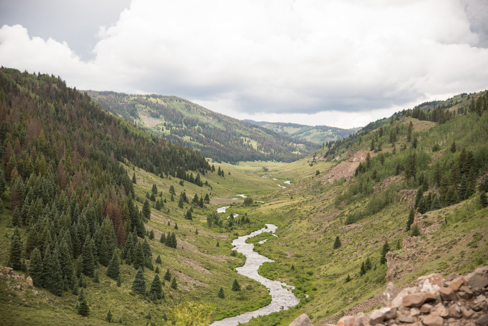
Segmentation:
[[(404, 289), (389, 283), (381, 295), (382, 308), (344, 316), (338, 326), (488, 326), (487, 286), (488, 266), (466, 276), (452, 273), (447, 279), (438, 273), (423, 276), (417, 286)], [(290, 326), (312, 325), (305, 317)]]

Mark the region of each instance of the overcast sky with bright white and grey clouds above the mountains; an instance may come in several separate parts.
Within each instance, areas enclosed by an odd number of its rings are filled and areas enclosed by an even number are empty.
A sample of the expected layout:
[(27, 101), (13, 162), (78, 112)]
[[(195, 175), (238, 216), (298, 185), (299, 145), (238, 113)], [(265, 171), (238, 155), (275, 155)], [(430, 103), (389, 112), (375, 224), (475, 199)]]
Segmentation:
[(0, 64), (350, 128), (488, 89), (487, 0), (0, 0)]

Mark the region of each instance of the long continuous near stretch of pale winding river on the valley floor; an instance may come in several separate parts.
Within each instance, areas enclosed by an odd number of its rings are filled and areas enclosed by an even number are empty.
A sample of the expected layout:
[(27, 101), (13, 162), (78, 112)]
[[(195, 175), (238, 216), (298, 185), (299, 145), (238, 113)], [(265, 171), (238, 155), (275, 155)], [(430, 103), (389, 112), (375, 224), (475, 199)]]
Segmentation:
[(245, 241), (247, 238), (254, 237), (263, 232), (271, 232), (274, 235), (278, 227), (274, 224), (266, 224), (260, 230), (254, 231), (248, 235), (244, 235), (235, 239), (232, 245), (235, 246), (238, 252), (241, 252), (246, 257), (244, 266), (237, 267), (236, 270), (239, 274), (250, 277), (253, 280), (258, 281), (262, 285), (269, 289), (271, 295), (271, 303), (267, 306), (259, 308), (258, 310), (244, 312), (241, 315), (235, 317), (224, 318), (211, 324), (211, 326), (237, 326), (239, 324), (247, 323), (253, 317), (269, 315), (272, 312), (286, 310), (290, 307), (298, 305), (300, 302), (297, 297), (291, 292), (290, 289), (293, 286), (286, 285), (280, 281), (273, 281), (267, 279), (258, 274), (259, 266), (264, 262), (274, 262), (273, 260), (264, 257), (254, 251), (254, 244), (247, 244)]

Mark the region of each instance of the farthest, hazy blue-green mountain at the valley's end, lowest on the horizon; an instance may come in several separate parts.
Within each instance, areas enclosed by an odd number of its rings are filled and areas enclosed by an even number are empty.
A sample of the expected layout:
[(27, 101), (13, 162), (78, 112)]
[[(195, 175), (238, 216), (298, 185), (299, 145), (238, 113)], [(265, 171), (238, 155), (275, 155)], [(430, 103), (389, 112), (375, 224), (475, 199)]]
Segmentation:
[(246, 122), (271, 129), (281, 135), (306, 140), (312, 143), (323, 144), (338, 139), (343, 139), (361, 128), (342, 129), (329, 127), (326, 125), (309, 126), (298, 123), (285, 122), (256, 122), (254, 120), (244, 120)]

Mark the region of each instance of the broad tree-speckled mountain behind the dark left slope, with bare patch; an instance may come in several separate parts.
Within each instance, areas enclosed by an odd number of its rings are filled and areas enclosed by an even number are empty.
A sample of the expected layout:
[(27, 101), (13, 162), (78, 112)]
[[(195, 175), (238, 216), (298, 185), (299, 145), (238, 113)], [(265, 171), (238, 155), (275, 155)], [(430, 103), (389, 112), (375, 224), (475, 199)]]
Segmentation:
[(105, 110), (215, 161), (293, 162), (319, 148), (174, 96), (87, 91)]

